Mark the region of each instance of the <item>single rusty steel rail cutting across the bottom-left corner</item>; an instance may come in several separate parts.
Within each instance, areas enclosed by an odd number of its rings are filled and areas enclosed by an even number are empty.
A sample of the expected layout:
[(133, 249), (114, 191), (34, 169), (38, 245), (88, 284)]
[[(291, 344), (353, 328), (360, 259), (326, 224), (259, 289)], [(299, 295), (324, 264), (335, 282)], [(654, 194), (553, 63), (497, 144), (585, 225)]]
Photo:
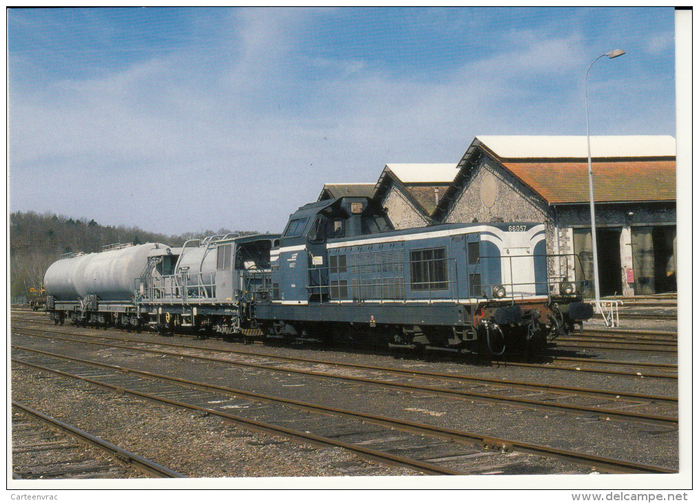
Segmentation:
[(166, 468), (162, 465), (159, 465), (156, 462), (153, 462), (151, 460), (148, 460), (146, 458), (143, 458), (143, 456), (140, 456), (138, 454), (131, 453), (130, 451), (127, 451), (126, 449), (123, 449), (119, 446), (115, 446), (114, 444), (111, 444), (110, 442), (101, 439), (99, 437), (95, 437), (92, 434), (89, 434), (87, 432), (84, 432), (82, 430), (79, 430), (78, 428), (69, 425), (68, 423), (64, 423), (61, 420), (58, 420), (56, 418), (52, 418), (51, 416), (47, 416), (44, 413), (41, 413), (37, 411), (36, 409), (31, 409), (31, 407), (21, 404), (20, 402), (17, 402), (15, 400), (12, 401), (12, 406), (15, 407), (15, 409), (19, 409), (20, 411), (29, 414), (29, 416), (32, 416), (34, 418), (37, 418), (38, 420), (43, 421), (44, 423), (48, 424), (50, 427), (57, 428), (59, 430), (62, 430), (68, 434), (70, 434), (72, 437), (75, 437), (79, 439), (82, 442), (85, 442), (87, 444), (92, 444), (93, 446), (101, 448), (103, 451), (106, 451), (110, 455), (113, 455), (115, 458), (122, 462), (126, 462), (127, 465), (131, 465), (135, 467), (136, 469), (139, 469), (141, 472), (145, 472), (148, 474), (152, 474), (158, 477), (162, 478), (170, 478), (170, 479), (184, 479), (185, 476), (175, 472), (174, 470), (171, 470), (169, 468)]

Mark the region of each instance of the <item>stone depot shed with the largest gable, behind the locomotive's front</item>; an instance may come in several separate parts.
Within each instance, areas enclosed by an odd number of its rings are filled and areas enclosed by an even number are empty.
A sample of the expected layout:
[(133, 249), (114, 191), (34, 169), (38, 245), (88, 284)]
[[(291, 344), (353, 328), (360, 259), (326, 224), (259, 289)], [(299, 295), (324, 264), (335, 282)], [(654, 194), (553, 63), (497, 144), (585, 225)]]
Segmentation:
[[(593, 136), (591, 154), (600, 295), (677, 291), (675, 139)], [(381, 185), (380, 178), (375, 197), (386, 194)], [(584, 274), (590, 295), (589, 197), (586, 136), (477, 136), (430, 218), (419, 225), (545, 223), (547, 253), (580, 257), (577, 264), (550, 262), (549, 274), (576, 279)], [(389, 217), (404, 211), (398, 197), (383, 198)]]

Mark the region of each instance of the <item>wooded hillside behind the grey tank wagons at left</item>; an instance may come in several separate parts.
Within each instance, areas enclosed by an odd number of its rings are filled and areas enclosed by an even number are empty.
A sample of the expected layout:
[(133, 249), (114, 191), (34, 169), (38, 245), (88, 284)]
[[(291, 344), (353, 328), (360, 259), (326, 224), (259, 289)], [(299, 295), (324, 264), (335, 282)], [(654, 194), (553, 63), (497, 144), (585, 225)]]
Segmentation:
[[(73, 219), (53, 213), (34, 211), (10, 213), (10, 295), (25, 297), (30, 288), (41, 288), (46, 269), (64, 253), (100, 252), (114, 243), (165, 243), (182, 246), (187, 239), (201, 239), (212, 234), (228, 234), (201, 230), (181, 236), (166, 236), (138, 227), (100, 225), (94, 219)], [(240, 232), (240, 234), (254, 234)]]

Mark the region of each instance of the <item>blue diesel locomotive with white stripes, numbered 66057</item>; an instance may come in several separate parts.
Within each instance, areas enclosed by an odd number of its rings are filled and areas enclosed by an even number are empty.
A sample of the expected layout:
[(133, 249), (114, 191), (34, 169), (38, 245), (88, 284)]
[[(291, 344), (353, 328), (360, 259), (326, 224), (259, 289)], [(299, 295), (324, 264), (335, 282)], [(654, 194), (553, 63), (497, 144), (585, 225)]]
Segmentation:
[[(271, 250), (268, 337), (488, 348), (543, 343), (593, 314), (582, 281), (550, 278), (545, 226), (394, 230), (382, 208), (343, 197), (296, 211)], [(559, 267), (560, 269), (560, 267)]]

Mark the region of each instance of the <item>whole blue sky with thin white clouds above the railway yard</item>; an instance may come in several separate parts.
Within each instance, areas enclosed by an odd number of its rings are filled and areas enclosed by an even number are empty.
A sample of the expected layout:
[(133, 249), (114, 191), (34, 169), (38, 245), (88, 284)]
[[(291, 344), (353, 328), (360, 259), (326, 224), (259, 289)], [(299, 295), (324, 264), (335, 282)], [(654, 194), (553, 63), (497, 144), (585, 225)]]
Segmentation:
[(672, 8), (10, 9), (10, 211), (280, 232), (476, 135), (675, 136)]

